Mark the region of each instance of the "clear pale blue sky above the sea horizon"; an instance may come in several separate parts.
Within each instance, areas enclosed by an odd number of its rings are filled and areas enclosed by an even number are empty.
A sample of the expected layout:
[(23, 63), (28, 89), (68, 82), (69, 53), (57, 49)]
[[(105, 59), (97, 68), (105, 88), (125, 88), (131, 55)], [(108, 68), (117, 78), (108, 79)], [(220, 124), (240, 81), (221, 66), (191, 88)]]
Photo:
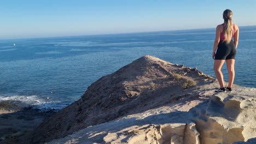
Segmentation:
[(213, 28), (225, 9), (248, 26), (255, 8), (255, 0), (8, 0), (0, 2), (0, 39)]

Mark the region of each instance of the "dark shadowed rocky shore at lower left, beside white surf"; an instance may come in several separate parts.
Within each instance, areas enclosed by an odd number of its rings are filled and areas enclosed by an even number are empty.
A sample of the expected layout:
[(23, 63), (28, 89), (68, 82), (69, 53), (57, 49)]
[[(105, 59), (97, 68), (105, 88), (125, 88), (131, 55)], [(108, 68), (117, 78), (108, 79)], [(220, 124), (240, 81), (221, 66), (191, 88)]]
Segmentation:
[(0, 143), (11, 143), (34, 130), (56, 111), (33, 109), (21, 101), (0, 101)]

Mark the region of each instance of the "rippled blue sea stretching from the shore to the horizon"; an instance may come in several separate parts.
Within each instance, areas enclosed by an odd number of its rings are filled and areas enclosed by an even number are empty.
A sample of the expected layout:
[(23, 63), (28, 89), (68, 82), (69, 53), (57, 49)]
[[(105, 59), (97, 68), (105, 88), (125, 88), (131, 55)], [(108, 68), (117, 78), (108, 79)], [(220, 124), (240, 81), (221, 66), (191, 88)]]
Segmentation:
[[(215, 29), (0, 40), (0, 100), (61, 109), (100, 77), (144, 55), (213, 76)], [(16, 44), (15, 46), (13, 44)], [(240, 27), (238, 85), (256, 87), (256, 26)], [(228, 71), (223, 66), (225, 81)]]

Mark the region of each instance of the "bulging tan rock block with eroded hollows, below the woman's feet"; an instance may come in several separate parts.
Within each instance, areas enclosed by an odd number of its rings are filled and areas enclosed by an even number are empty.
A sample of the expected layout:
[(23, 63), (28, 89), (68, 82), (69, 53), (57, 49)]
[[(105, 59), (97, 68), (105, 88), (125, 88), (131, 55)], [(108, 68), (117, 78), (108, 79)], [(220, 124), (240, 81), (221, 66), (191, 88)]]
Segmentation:
[[(190, 110), (201, 143), (232, 143), (256, 137), (256, 88), (236, 86)], [(203, 109), (205, 107), (205, 109)]]

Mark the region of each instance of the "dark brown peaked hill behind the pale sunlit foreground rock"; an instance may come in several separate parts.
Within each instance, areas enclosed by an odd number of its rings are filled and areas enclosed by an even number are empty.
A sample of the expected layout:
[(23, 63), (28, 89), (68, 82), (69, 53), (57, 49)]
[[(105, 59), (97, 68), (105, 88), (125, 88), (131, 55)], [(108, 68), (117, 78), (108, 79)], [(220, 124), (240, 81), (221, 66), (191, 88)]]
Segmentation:
[(171, 103), (214, 79), (196, 68), (143, 56), (92, 83), (82, 98), (39, 125), (27, 143), (44, 143), (80, 129)]

